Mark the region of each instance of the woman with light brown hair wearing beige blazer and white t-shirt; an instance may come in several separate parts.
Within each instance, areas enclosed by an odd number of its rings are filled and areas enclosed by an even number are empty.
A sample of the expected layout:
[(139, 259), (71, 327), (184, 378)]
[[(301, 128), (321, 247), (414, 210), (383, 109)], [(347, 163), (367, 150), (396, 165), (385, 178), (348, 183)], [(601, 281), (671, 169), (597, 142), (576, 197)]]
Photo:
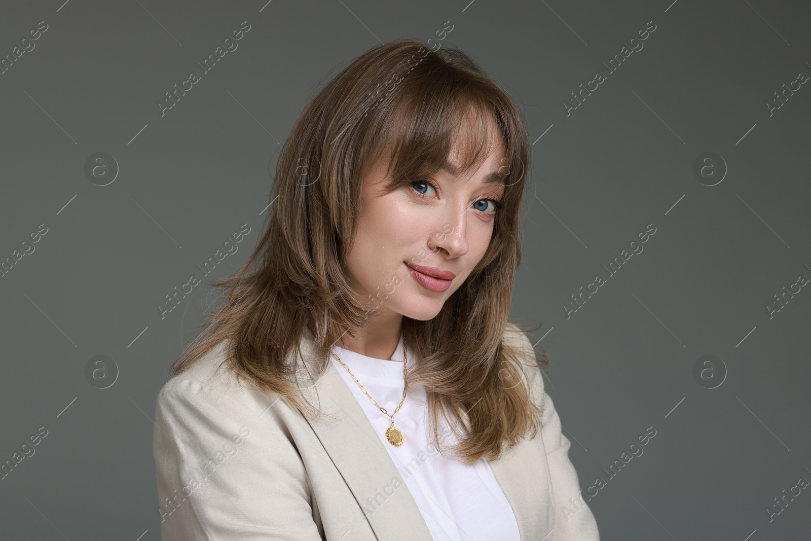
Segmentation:
[(507, 322), (529, 151), (457, 50), (380, 45), (317, 93), (158, 395), (164, 541), (599, 540)]

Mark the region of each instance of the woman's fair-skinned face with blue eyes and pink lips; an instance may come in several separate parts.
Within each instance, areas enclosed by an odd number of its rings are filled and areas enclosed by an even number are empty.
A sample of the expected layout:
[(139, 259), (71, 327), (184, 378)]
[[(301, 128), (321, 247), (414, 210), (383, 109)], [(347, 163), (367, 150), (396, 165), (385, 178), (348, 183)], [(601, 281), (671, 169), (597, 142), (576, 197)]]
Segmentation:
[(371, 168), (346, 268), (370, 310), (414, 320), (439, 314), (487, 251), (504, 195), (503, 152), (500, 141), (478, 170), (462, 176), (454, 149), (445, 169), (388, 194), (382, 191), (388, 164)]

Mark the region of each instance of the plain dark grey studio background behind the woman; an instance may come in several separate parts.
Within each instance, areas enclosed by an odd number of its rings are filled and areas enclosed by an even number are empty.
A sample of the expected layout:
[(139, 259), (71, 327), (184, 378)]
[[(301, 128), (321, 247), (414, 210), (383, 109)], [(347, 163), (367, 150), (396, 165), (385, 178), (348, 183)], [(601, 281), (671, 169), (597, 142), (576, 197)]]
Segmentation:
[[(509, 89), (534, 141), (513, 320), (546, 322), (531, 338), (569, 456), (584, 492), (607, 480), (589, 501), (602, 539), (808, 538), (808, 489), (766, 512), (811, 480), (811, 292), (766, 309), (811, 277), (811, 88), (766, 108), (811, 74), (807, 2), (7, 2), (0, 56), (41, 20), (0, 75), (0, 259), (48, 227), (0, 278), (0, 462), (48, 436), (0, 480), (0, 537), (160, 539), (155, 399), (212, 295), (198, 286), (163, 320), (156, 303), (245, 223), (215, 274), (247, 259), (280, 144), (320, 81), (380, 41), (436, 42), (450, 21), (441, 43)], [(161, 117), (157, 101), (245, 20), (238, 49)], [(644, 48), (567, 116), (651, 20)], [(105, 187), (84, 174), (95, 152), (120, 167)], [(693, 176), (703, 152), (727, 166), (712, 187)], [(567, 318), (648, 224), (644, 251)], [(98, 354), (120, 371), (108, 389), (85, 379)], [(726, 368), (715, 389), (693, 378), (705, 354)], [(609, 479), (647, 427), (642, 456)]]

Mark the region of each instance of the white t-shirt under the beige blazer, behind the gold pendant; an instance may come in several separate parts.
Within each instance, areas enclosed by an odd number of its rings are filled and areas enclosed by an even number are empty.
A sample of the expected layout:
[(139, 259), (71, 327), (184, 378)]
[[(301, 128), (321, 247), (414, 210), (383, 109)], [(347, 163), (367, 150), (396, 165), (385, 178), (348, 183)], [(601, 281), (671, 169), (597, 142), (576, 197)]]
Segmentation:
[[(333, 351), (380, 406), (393, 414), (403, 396), (403, 338), (391, 360), (373, 359), (337, 346), (333, 346)], [(396, 447), (385, 435), (392, 419), (372, 403), (333, 355), (330, 359), (380, 436), (434, 541), (520, 541), (513, 509), (487, 461), (482, 458), (468, 466), (454, 460), (448, 452), (441, 455), (429, 443), (430, 419), (421, 385), (410, 384), (402, 407), (394, 414), (394, 426), (405, 438), (405, 442)], [(409, 370), (415, 360), (409, 348)], [(442, 414), (440, 423), (440, 442), (457, 443)], [(369, 508), (367, 513), (375, 510), (374, 502), (364, 505)]]

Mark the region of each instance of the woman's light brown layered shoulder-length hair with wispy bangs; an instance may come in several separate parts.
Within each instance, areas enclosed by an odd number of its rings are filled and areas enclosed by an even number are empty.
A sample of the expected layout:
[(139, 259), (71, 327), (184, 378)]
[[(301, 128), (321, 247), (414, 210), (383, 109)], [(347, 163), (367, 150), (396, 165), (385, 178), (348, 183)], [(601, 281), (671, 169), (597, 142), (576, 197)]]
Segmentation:
[[(497, 133), (488, 129), (491, 122)], [(375, 46), (304, 107), (277, 160), (264, 234), (234, 276), (212, 284), (222, 288), (223, 303), (206, 312), (173, 373), (227, 340), (225, 363), (239, 380), (313, 414), (299, 384), (301, 341), (313, 341), (319, 371), (310, 377), (316, 380), (328, 367), (330, 348), (375, 316), (369, 308), (375, 299), (356, 292), (345, 273), (364, 175), (388, 160), (386, 189), (393, 191), (436, 174), (452, 148), (460, 173), (474, 171), (498, 143), (505, 151), (499, 169), (505, 207), (496, 213), (482, 260), (440, 313), (425, 321), (403, 316), (409, 351), (418, 359), (408, 380), (426, 389), (440, 452), (467, 463), (495, 460), (535, 437), (542, 410), (528, 386), (518, 384), (527, 380), (521, 363), (529, 353), (504, 339), (513, 327), (508, 316), (521, 264), (526, 127), (508, 92), (469, 56), (420, 41)], [(537, 328), (516, 325), (513, 332)], [(529, 362), (548, 365), (543, 351)], [(440, 414), (461, 427), (457, 432), (451, 423), (457, 445), (442, 443)]]

